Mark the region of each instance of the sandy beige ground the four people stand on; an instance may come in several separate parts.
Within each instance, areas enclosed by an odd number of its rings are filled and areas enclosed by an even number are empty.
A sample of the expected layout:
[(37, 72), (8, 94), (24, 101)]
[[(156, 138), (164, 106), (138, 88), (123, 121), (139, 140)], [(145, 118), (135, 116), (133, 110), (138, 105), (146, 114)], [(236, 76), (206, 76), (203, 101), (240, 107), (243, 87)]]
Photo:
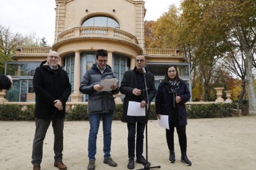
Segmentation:
[[(68, 169), (87, 169), (88, 121), (67, 121), (64, 124), (64, 163)], [(166, 169), (255, 169), (256, 116), (233, 118), (188, 119), (187, 155), (192, 166), (180, 161), (175, 132), (176, 163), (168, 161), (169, 151), (165, 131), (157, 121), (148, 123), (148, 160), (151, 166)], [(35, 132), (33, 121), (0, 121), (0, 169), (32, 169), (31, 152)], [(44, 142), (41, 169), (53, 167), (53, 129), (50, 127)], [(98, 134), (96, 169), (127, 169), (126, 123), (113, 121), (112, 158), (118, 166), (103, 163), (102, 125)], [(145, 152), (144, 152), (145, 156)], [(143, 168), (135, 163), (135, 169)]]

